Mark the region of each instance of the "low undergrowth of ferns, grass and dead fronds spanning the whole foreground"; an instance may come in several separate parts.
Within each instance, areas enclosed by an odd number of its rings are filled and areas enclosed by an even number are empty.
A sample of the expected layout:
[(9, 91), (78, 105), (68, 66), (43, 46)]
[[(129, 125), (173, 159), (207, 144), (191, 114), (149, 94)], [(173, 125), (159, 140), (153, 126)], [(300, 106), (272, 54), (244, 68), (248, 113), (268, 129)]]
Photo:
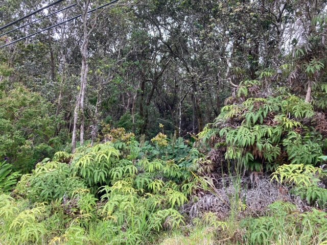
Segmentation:
[(245, 176), (238, 161), (219, 176), (212, 156), (182, 139), (136, 141), (122, 129), (105, 137), (43, 159), (16, 186), (19, 173), (2, 163), (0, 244), (327, 241), (323, 166), (284, 164), (269, 179)]

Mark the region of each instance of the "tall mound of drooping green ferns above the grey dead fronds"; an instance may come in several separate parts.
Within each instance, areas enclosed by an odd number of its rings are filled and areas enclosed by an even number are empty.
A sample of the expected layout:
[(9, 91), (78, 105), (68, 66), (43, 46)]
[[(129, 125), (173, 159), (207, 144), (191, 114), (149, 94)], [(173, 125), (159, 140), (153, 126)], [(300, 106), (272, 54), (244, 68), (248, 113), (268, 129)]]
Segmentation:
[[(252, 91), (260, 86), (245, 82)], [(209, 143), (224, 153), (227, 162), (236, 160), (251, 171), (273, 171), (286, 162), (319, 162), (324, 144), (322, 136), (308, 123), (314, 116), (310, 104), (284, 92), (248, 99), (242, 94), (242, 100), (224, 106), (213, 124), (198, 135), (204, 145)]]

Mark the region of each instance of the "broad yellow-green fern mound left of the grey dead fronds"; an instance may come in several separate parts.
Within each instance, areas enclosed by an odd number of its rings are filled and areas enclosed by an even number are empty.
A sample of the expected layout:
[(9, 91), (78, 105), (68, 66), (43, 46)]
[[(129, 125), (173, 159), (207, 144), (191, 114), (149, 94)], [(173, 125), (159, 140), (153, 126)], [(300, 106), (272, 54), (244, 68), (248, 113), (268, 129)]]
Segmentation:
[(81, 146), (74, 154), (57, 152), (38, 163), (14, 190), (32, 206), (18, 207), (7, 198), (0, 209), (0, 218), (12, 220), (5, 231), (20, 232), (15, 241), (36, 244), (44, 239), (50, 244), (134, 245), (185, 225), (178, 209), (198, 188), (186, 163), (200, 153), (181, 139), (167, 139), (161, 149), (165, 155), (156, 146), (130, 140), (121, 150), (115, 148), (122, 142), (117, 138)]

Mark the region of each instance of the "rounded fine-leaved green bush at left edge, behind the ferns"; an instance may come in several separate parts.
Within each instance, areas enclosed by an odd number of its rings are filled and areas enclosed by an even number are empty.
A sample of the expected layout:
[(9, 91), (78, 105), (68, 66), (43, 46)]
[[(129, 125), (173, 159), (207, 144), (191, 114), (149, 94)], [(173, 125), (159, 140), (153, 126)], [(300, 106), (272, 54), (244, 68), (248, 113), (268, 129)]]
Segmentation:
[(7, 159), (15, 170), (28, 172), (54, 149), (55, 117), (51, 106), (38, 94), (16, 86), (0, 97), (0, 161)]

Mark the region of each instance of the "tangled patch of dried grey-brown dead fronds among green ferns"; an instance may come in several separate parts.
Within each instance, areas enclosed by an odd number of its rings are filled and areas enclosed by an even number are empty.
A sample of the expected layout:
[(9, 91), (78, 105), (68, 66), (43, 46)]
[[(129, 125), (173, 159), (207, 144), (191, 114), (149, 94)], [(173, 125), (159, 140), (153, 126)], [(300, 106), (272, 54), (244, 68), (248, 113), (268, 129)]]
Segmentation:
[[(214, 193), (205, 193), (198, 200), (184, 205), (183, 211), (189, 213), (191, 218), (202, 212), (215, 212), (221, 218), (230, 215), (231, 203), (238, 195), (240, 215), (260, 216), (266, 208), (276, 201), (292, 202), (291, 195), (285, 187), (278, 186), (268, 177), (241, 178), (241, 187), (236, 187), (230, 177), (214, 179)], [(238, 191), (238, 193), (237, 193)]]

